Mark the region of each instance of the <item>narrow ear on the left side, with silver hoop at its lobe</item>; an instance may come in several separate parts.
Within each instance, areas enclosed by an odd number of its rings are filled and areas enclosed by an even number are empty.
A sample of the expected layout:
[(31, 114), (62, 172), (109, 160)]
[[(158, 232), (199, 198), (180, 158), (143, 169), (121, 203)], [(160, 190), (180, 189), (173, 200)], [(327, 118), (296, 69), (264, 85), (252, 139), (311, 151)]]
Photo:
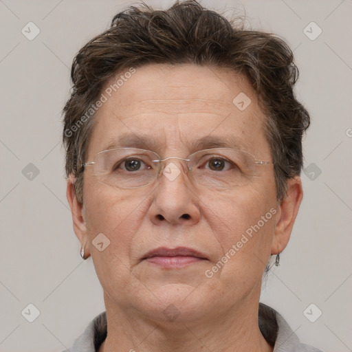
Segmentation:
[(74, 192), (74, 183), (76, 179), (73, 175), (67, 178), (67, 189), (66, 197), (71, 208), (72, 221), (74, 223), (74, 232), (80, 241), (80, 246), (85, 249), (85, 258), (88, 258), (89, 253), (89, 237), (87, 234), (87, 226), (84, 219), (83, 204), (80, 204), (77, 200), (76, 193)]

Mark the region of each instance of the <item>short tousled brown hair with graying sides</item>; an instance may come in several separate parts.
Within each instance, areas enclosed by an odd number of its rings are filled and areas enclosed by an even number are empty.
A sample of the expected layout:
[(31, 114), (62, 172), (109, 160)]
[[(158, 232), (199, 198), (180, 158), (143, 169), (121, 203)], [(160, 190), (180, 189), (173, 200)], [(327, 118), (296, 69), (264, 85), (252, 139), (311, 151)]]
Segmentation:
[(80, 203), (82, 164), (94, 126), (94, 113), (87, 111), (114, 74), (148, 63), (214, 65), (245, 76), (267, 115), (276, 197), (285, 197), (287, 180), (303, 167), (302, 137), (310, 123), (294, 94), (298, 69), (283, 40), (234, 23), (237, 19), (228, 21), (195, 0), (177, 1), (164, 11), (143, 3), (116, 14), (108, 30), (80, 49), (72, 64), (72, 95), (63, 109), (66, 173), (76, 177)]

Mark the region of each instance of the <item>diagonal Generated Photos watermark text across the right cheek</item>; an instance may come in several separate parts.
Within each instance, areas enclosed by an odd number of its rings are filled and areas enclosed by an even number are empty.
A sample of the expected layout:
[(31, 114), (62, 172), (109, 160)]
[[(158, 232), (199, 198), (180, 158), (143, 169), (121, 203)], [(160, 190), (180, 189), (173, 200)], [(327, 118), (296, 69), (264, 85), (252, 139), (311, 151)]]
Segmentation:
[(275, 215), (276, 212), (277, 210), (275, 208), (271, 208), (265, 215), (261, 217), (261, 219), (255, 225), (251, 225), (250, 228), (245, 230), (245, 233), (242, 234), (241, 239), (237, 241), (235, 244), (233, 244), (230, 250), (228, 250), (228, 252), (226, 252), (225, 255), (222, 256), (221, 259), (215, 265), (213, 265), (211, 269), (208, 269), (204, 272), (206, 277), (212, 278), (212, 276), (214, 276), (214, 273), (219, 272), (219, 270), (223, 268), (225, 263), (228, 263), (228, 261), (230, 261), (230, 259), (234, 256), (234, 254), (239, 252), (239, 250), (241, 250), (243, 245), (245, 245), (245, 243), (247, 243), (250, 239), (252, 239), (252, 236), (254, 234), (253, 232), (256, 233), (259, 230), (261, 230), (261, 228), (263, 228), (265, 223), (267, 223), (267, 221), (272, 219), (273, 215)]

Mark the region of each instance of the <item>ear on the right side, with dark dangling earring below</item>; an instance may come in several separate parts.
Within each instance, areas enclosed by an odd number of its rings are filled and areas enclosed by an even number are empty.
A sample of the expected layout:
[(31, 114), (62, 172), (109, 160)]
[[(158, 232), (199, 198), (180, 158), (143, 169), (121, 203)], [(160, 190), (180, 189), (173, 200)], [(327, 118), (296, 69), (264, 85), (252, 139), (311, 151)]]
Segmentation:
[(272, 254), (283, 252), (291, 236), (294, 221), (303, 199), (302, 181), (296, 176), (287, 181), (287, 193), (278, 206), (276, 226), (272, 241)]

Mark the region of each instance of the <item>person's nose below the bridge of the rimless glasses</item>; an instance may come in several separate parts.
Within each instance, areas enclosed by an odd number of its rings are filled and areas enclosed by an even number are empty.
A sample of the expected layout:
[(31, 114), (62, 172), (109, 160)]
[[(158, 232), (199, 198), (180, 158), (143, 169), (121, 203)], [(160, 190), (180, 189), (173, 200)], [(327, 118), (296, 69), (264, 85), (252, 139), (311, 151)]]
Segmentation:
[(194, 225), (200, 219), (199, 198), (186, 174), (186, 162), (178, 159), (163, 163), (149, 208), (149, 216), (155, 225), (163, 221), (174, 225)]

